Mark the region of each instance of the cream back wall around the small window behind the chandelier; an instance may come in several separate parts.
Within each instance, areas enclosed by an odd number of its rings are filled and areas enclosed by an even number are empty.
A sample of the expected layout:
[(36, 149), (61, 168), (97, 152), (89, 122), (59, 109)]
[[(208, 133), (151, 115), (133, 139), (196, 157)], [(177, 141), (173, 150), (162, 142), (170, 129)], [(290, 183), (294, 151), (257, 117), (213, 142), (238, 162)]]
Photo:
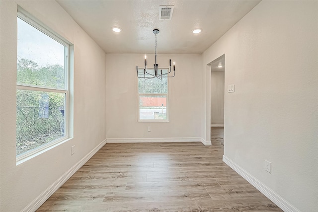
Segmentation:
[[(148, 67), (155, 56), (147, 54)], [(142, 54), (106, 54), (106, 129), (112, 139), (201, 138), (201, 55), (158, 55), (159, 67), (175, 61), (169, 78), (169, 122), (137, 122), (137, 73)], [(147, 127), (151, 127), (151, 132)], [(200, 141), (200, 140), (198, 140)]]

